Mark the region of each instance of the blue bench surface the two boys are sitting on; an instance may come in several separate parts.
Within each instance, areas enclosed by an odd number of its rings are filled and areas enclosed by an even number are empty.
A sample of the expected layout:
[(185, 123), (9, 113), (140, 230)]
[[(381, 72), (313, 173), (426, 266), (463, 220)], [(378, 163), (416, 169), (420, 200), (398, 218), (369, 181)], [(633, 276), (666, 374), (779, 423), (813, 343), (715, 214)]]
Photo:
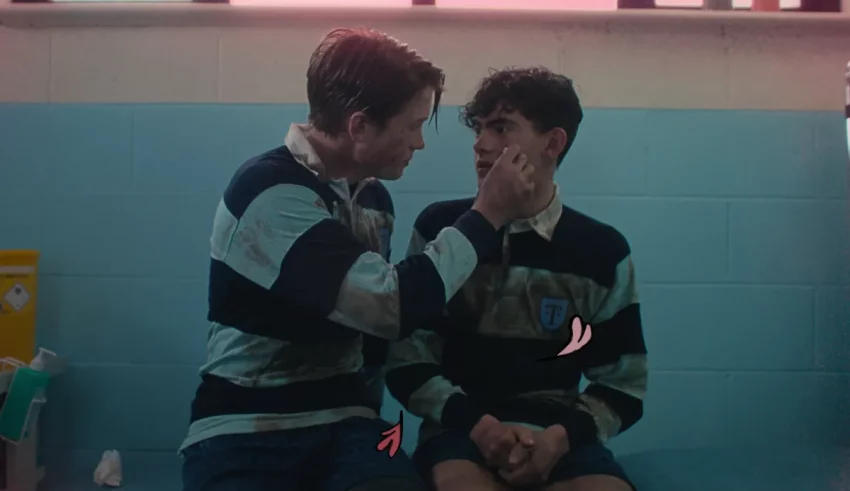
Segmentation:
[[(87, 491), (98, 452), (48, 469), (46, 491)], [(620, 457), (638, 491), (850, 491), (850, 448), (656, 450)], [(122, 491), (180, 491), (180, 461), (167, 452), (122, 453)]]

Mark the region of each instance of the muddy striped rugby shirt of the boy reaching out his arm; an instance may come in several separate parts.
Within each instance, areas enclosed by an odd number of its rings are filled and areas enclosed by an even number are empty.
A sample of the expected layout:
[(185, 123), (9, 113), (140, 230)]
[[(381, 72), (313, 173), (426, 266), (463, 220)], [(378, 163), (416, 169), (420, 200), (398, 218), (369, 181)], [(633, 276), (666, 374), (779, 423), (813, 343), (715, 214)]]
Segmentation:
[[(354, 193), (370, 187), (380, 201), (377, 181)], [(183, 447), (375, 417), (363, 335), (399, 339), (438, 317), (496, 237), (469, 211), (391, 264), (388, 217), (357, 206), (351, 191), (323, 177), (298, 125), (236, 172), (210, 239), (209, 355)]]

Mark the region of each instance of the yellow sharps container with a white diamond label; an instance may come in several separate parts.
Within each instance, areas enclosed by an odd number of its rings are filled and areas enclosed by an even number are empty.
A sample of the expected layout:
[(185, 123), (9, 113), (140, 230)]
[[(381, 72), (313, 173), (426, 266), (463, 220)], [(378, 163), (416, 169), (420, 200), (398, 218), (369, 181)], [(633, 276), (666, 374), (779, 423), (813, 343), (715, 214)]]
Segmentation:
[(38, 251), (0, 250), (0, 358), (35, 356)]

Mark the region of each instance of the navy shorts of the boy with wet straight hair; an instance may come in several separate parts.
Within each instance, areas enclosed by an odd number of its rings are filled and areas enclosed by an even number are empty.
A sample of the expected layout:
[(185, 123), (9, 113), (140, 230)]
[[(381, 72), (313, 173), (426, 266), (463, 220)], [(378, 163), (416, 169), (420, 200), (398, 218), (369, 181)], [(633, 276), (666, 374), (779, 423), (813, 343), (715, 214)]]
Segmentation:
[(239, 435), (189, 446), (183, 456), (184, 491), (349, 491), (373, 480), (409, 481), (399, 491), (424, 489), (403, 451), (378, 452), (381, 419)]

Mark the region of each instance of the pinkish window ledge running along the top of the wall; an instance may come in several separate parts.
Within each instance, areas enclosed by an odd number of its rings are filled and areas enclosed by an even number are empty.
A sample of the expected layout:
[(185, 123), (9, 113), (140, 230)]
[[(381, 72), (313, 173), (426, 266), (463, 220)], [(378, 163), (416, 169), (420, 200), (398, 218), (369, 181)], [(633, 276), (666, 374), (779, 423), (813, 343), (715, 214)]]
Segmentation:
[[(511, 25), (717, 25), (782, 27), (847, 32), (850, 15), (837, 13), (763, 13), (700, 10), (523, 11), (410, 8), (298, 8), (198, 3), (55, 3), (2, 4), (0, 25), (50, 27), (256, 27), (302, 25), (305, 21), (360, 24), (427, 22)], [(439, 23), (439, 24), (437, 24)]]

